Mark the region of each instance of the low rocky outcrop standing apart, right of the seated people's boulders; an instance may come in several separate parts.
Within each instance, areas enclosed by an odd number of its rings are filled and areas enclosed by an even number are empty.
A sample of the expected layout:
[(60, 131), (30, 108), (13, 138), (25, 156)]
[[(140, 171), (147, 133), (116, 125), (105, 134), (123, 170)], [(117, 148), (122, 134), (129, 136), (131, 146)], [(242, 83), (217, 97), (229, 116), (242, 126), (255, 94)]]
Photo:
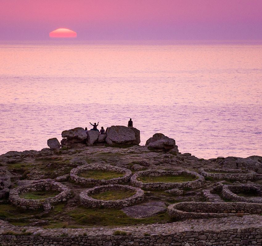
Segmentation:
[(178, 146), (176, 145), (176, 141), (173, 138), (166, 137), (162, 133), (155, 133), (153, 137), (150, 137), (145, 145), (150, 149), (159, 149), (159, 150), (170, 150), (178, 153)]

